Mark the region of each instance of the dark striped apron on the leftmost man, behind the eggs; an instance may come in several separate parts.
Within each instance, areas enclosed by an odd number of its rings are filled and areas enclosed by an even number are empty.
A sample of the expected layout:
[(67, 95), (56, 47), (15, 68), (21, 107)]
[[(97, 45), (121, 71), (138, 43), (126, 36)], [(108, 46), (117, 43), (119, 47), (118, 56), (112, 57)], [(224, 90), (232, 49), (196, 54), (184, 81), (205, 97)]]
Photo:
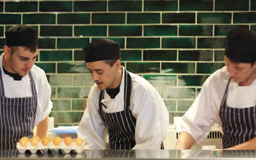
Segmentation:
[(0, 70), (0, 149), (16, 148), (20, 138), (24, 136), (32, 138), (33, 136), (37, 95), (31, 72), (29, 72), (29, 78), (31, 97), (8, 98), (4, 96), (4, 84)]

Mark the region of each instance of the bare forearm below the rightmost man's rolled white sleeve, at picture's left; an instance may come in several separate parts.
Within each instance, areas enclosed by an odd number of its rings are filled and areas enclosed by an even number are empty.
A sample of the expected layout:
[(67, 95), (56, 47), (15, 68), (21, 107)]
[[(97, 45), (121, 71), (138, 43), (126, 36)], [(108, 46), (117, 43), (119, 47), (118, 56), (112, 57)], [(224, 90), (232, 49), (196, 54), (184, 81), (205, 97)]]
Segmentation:
[(181, 132), (175, 148), (177, 150), (187, 150), (194, 144), (195, 139), (188, 132)]

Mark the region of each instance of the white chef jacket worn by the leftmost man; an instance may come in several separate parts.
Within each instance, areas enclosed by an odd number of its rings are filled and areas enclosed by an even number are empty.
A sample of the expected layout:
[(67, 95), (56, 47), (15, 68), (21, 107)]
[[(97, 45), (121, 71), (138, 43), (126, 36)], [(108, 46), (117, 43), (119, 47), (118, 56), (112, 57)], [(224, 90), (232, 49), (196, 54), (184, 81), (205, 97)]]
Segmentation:
[[(15, 97), (31, 97), (31, 83), (29, 75), (22, 77), (20, 81), (14, 81), (13, 77), (8, 74), (4, 74), (3, 71), (3, 54), (0, 56), (0, 68), (1, 75), (4, 84), (4, 94), (5, 97), (15, 98)], [(38, 95), (37, 110), (35, 117), (35, 124), (38, 125), (39, 122), (44, 120), (47, 115), (51, 112), (52, 102), (51, 102), (51, 86), (47, 81), (44, 70), (33, 65), (31, 68), (31, 74), (35, 81), (36, 94)]]

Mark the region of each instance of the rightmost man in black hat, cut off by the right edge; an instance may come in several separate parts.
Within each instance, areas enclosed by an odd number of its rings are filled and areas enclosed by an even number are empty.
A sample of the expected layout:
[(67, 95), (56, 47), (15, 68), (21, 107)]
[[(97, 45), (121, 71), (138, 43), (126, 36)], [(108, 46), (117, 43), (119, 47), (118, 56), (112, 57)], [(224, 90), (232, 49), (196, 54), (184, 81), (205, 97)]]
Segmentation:
[(227, 36), (225, 67), (205, 81), (183, 116), (176, 148), (191, 148), (217, 123), (223, 129), (223, 148), (256, 149), (255, 78), (256, 33), (233, 29)]

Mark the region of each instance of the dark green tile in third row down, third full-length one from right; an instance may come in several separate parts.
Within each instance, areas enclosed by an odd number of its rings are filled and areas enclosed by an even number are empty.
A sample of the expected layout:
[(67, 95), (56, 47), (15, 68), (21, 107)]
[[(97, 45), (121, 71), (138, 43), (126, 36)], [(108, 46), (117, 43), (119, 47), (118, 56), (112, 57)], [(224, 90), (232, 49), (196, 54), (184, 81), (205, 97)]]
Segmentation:
[(177, 26), (144, 26), (144, 36), (177, 36)]

